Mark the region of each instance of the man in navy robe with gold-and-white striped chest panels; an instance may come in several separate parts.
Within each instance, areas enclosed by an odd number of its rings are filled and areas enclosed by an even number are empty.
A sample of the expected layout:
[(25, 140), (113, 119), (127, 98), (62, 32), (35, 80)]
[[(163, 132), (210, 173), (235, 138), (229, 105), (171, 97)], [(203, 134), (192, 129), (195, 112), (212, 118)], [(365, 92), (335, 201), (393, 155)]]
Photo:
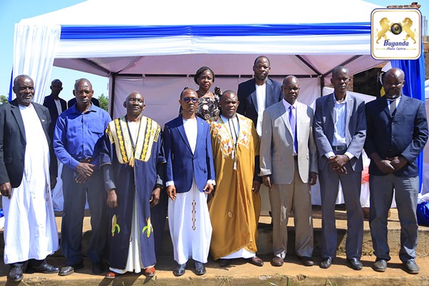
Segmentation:
[(155, 275), (154, 231), (164, 230), (163, 225), (154, 224), (151, 211), (159, 203), (162, 188), (161, 128), (142, 115), (145, 101), (138, 91), (128, 94), (124, 106), (127, 115), (106, 128), (100, 159), (111, 222), (107, 278), (141, 270)]

